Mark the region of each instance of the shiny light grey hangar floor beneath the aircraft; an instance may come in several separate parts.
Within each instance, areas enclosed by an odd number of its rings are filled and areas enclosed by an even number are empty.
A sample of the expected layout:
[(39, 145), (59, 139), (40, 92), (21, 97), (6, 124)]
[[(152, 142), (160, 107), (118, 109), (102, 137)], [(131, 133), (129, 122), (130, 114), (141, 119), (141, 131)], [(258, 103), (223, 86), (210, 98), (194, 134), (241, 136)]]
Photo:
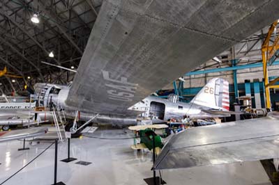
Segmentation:
[[(123, 131), (98, 131), (94, 136), (124, 138)], [(130, 136), (130, 135), (129, 135)], [(151, 152), (137, 152), (130, 149), (133, 139), (75, 138), (71, 140), (71, 156), (77, 161), (89, 161), (89, 166), (58, 163), (58, 181), (65, 184), (121, 184), (143, 185), (144, 178), (151, 177)], [(22, 168), (50, 143), (27, 145), (30, 150), (17, 151), (22, 141), (0, 143), (0, 184)], [(59, 143), (58, 159), (67, 156), (67, 143)], [(257, 184), (267, 185), (269, 177), (259, 161), (235, 163), (204, 168), (165, 170), (162, 172), (167, 184)], [(27, 168), (5, 184), (53, 184), (54, 145), (39, 156)]]

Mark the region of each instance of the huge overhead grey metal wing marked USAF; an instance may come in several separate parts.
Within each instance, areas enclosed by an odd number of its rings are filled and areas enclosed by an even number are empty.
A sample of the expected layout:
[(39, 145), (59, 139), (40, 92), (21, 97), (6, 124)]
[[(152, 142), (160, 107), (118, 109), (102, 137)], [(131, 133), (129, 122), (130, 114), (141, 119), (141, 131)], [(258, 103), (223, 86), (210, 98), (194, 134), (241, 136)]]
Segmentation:
[(277, 1), (105, 0), (66, 103), (128, 107), (279, 17)]

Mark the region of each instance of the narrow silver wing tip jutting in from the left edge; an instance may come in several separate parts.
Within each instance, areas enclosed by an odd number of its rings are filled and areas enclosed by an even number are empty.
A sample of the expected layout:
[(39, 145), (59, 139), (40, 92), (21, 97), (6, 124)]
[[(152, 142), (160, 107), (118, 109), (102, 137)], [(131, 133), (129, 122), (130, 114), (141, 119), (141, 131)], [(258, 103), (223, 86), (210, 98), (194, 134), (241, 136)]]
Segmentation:
[(0, 142), (33, 138), (47, 133), (47, 128), (18, 129), (13, 131), (0, 131)]

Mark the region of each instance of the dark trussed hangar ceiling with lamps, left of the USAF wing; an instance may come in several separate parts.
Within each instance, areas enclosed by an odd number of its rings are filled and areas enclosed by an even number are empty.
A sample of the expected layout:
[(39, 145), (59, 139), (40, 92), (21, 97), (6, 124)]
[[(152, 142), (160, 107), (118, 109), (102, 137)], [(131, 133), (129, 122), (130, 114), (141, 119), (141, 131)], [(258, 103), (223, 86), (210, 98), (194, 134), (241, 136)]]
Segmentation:
[[(58, 69), (40, 61), (77, 67), (100, 6), (100, 0), (1, 1), (0, 70), (7, 66), (24, 81), (27, 76), (45, 81), (45, 74)], [(34, 14), (38, 24), (31, 22)], [(48, 56), (51, 51), (54, 58)]]

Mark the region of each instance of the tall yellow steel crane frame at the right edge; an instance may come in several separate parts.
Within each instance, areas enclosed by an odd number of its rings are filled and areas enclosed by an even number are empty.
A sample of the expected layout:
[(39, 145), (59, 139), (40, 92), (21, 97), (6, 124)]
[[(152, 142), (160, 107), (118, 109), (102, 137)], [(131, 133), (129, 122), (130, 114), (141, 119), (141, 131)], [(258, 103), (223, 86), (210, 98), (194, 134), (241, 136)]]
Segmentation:
[(273, 58), (277, 58), (277, 53), (279, 49), (279, 35), (275, 35), (275, 40), (273, 41), (273, 45), (269, 45), (269, 41), (271, 39), (271, 35), (273, 31), (276, 30), (276, 26), (279, 23), (279, 19), (273, 22), (269, 28), (269, 32), (266, 35), (264, 43), (262, 44), (262, 64), (264, 70), (264, 87), (266, 91), (266, 108), (271, 109), (271, 99), (269, 88), (279, 88), (279, 85), (275, 85), (277, 81), (279, 81), (279, 77), (273, 79), (273, 81), (269, 81), (269, 72), (267, 69), (267, 65), (272, 65)]

